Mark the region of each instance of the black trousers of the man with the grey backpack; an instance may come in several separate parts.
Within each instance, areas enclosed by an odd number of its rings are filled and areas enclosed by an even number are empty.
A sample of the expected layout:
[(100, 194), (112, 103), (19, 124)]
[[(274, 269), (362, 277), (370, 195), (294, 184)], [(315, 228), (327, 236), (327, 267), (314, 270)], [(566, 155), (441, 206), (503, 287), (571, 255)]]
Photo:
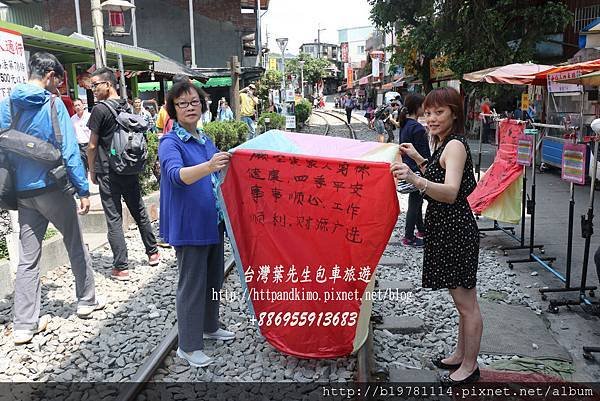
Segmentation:
[(113, 252), (113, 266), (120, 270), (127, 269), (127, 243), (123, 232), (121, 198), (125, 200), (127, 209), (138, 226), (146, 254), (152, 255), (158, 252), (156, 237), (152, 232), (152, 225), (142, 199), (139, 177), (109, 173), (96, 174), (96, 179), (100, 189), (102, 209), (106, 216), (108, 243)]

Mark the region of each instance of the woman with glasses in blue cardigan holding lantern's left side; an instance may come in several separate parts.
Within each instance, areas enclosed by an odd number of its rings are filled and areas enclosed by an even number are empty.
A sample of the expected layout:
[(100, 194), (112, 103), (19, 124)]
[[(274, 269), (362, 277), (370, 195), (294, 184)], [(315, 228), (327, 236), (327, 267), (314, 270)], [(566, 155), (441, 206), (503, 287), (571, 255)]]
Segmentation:
[[(232, 340), (219, 328), (223, 284), (224, 224), (217, 203), (218, 172), (231, 155), (220, 152), (197, 127), (206, 101), (190, 82), (173, 86), (166, 104), (173, 129), (161, 139), (160, 235), (175, 247), (177, 286), (177, 355), (191, 366), (208, 366), (204, 339)], [(202, 335), (202, 333), (204, 333)]]

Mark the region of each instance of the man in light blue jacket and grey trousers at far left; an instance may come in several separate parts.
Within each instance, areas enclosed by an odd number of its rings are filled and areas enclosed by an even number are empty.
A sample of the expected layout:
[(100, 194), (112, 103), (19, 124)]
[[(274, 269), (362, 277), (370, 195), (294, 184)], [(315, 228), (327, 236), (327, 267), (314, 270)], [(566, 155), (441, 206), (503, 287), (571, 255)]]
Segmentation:
[[(19, 264), (15, 281), (14, 327), (15, 344), (25, 344), (44, 331), (49, 316), (40, 318), (41, 285), (39, 261), (42, 240), (48, 223), (63, 236), (71, 271), (75, 276), (77, 316), (89, 318), (104, 307), (96, 298), (94, 272), (88, 250), (83, 242), (77, 213), (90, 208), (90, 193), (85, 170), (79, 155), (77, 137), (69, 114), (60, 98), (53, 95), (64, 79), (63, 66), (49, 53), (35, 53), (29, 59), (29, 80), (18, 84), (9, 99), (0, 103), (0, 137), (23, 135), (24, 148), (42, 143), (55, 149), (56, 164), (26, 157), (27, 149), (2, 149), (12, 166), (19, 213)], [(5, 130), (6, 128), (11, 130)], [(26, 135), (24, 135), (26, 134)], [(3, 142), (5, 143), (5, 142)], [(14, 142), (13, 142), (14, 143)], [(32, 155), (35, 156), (35, 155)], [(73, 198), (79, 196), (79, 209)]]

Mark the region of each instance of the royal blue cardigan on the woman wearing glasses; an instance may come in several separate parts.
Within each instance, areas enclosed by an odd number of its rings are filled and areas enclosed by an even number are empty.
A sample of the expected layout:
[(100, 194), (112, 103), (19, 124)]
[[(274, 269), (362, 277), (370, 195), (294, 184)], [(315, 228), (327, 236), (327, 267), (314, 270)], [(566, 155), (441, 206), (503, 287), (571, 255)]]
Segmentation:
[(179, 170), (204, 163), (218, 152), (210, 139), (204, 144), (187, 135), (178, 135), (178, 124), (163, 136), (158, 147), (160, 160), (160, 235), (173, 246), (218, 244), (218, 210), (212, 177), (194, 184), (181, 181)]

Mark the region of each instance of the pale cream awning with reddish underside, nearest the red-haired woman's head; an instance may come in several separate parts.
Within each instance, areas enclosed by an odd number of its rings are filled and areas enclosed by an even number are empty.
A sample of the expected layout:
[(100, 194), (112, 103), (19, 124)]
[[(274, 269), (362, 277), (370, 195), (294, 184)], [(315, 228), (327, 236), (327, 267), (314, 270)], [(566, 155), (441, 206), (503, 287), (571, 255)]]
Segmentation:
[(554, 66), (533, 63), (509, 64), (464, 74), (463, 79), (488, 84), (529, 85), (536, 79), (536, 74), (552, 68)]

